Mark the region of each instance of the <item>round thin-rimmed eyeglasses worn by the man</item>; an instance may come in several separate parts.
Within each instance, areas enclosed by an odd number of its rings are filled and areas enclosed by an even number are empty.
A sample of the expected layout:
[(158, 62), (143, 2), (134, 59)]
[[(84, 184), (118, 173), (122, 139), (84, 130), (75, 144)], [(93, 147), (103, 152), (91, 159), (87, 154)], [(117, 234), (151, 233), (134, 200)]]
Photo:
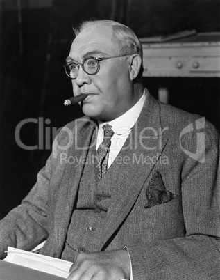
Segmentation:
[(85, 59), (83, 59), (82, 63), (78, 63), (76, 61), (67, 62), (64, 65), (64, 68), (67, 76), (71, 79), (76, 79), (80, 65), (82, 66), (84, 72), (86, 72), (88, 75), (96, 75), (96, 73), (98, 73), (100, 69), (99, 61), (103, 61), (104, 59), (114, 59), (115, 57), (122, 57), (128, 55), (129, 54), (109, 57), (87, 56), (85, 57)]

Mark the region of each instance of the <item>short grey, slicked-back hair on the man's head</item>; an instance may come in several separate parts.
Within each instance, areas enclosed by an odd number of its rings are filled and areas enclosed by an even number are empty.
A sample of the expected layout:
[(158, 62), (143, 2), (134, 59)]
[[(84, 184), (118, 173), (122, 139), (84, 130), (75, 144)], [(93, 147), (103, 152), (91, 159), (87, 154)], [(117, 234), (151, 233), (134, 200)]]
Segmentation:
[[(121, 24), (119, 22), (114, 22), (113, 20), (94, 20), (94, 21), (85, 21), (81, 23), (74, 29), (75, 36), (78, 36), (84, 29), (96, 26), (99, 24), (105, 24), (112, 26), (113, 29), (113, 42), (119, 47), (119, 54), (139, 54), (143, 61), (143, 50), (142, 44), (139, 42), (139, 39), (135, 35), (135, 32), (130, 29), (128, 26)], [(143, 72), (143, 64), (140, 70), (140, 74)]]

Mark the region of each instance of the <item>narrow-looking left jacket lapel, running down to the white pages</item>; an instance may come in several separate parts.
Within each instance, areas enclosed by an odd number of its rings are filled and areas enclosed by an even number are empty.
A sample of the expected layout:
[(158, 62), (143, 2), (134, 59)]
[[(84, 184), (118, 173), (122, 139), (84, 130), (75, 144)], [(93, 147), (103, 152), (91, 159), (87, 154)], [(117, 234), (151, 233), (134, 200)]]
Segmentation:
[[(69, 163), (67, 160), (67, 164), (65, 165), (65, 172), (60, 182), (60, 186), (62, 185), (62, 187), (60, 187), (60, 193), (57, 196), (58, 202), (56, 203), (54, 214), (55, 232), (53, 240), (56, 243), (55, 247), (57, 248), (56, 251), (58, 255), (61, 254), (62, 246), (65, 243), (78, 186), (85, 166), (85, 158), (87, 157), (90, 145), (94, 144), (92, 143), (92, 139), (96, 139), (96, 137), (92, 137), (97, 127), (96, 123), (86, 119), (84, 119), (83, 122), (84, 123), (77, 123), (79, 127), (73, 132), (73, 145), (71, 145), (67, 153), (67, 159), (70, 160)], [(74, 160), (74, 164), (71, 163)], [(79, 163), (78, 160), (81, 160), (81, 162)]]

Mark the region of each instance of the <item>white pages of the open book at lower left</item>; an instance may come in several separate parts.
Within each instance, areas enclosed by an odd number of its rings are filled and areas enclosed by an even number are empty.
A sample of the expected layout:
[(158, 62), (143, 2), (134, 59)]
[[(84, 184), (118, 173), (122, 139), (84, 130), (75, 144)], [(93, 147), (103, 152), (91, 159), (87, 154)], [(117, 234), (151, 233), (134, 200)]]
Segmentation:
[(7, 253), (8, 256), (4, 260), (9, 263), (29, 267), (64, 279), (69, 276), (69, 269), (73, 264), (67, 260), (60, 260), (59, 258), (52, 258), (12, 247), (8, 247)]

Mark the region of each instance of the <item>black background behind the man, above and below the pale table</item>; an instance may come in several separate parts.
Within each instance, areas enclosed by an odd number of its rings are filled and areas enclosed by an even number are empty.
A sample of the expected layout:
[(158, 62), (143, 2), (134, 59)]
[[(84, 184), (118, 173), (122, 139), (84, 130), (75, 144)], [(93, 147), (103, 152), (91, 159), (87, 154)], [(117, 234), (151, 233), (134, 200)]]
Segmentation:
[[(50, 153), (52, 130), (82, 115), (78, 106), (63, 106), (72, 95), (62, 67), (73, 39), (72, 26), (108, 18), (132, 27), (139, 37), (190, 29), (220, 31), (219, 0), (1, 0), (0, 4), (0, 218), (35, 183)], [(159, 87), (169, 88), (171, 104), (207, 116), (220, 130), (219, 79), (145, 78), (144, 84), (155, 97)], [(17, 125), (27, 118), (31, 121), (22, 126), (19, 139), (26, 146), (38, 145), (35, 150), (21, 148), (15, 139)]]

